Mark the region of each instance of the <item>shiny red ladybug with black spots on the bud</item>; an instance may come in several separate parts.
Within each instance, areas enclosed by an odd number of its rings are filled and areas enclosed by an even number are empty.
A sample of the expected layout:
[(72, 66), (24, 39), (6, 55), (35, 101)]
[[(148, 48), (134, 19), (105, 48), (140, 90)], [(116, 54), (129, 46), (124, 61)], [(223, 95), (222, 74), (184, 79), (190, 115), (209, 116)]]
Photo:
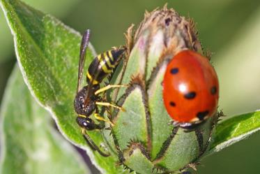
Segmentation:
[(217, 74), (210, 61), (197, 52), (178, 52), (167, 65), (162, 86), (165, 108), (176, 126), (189, 129), (217, 110)]

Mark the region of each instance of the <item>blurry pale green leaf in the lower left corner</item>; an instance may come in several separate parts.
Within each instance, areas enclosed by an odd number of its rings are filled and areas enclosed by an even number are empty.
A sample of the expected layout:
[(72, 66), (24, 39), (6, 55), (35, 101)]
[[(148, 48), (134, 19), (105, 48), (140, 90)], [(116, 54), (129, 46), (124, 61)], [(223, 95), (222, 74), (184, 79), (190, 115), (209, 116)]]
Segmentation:
[(1, 117), (0, 173), (90, 173), (76, 150), (52, 128), (51, 117), (33, 99), (17, 67)]

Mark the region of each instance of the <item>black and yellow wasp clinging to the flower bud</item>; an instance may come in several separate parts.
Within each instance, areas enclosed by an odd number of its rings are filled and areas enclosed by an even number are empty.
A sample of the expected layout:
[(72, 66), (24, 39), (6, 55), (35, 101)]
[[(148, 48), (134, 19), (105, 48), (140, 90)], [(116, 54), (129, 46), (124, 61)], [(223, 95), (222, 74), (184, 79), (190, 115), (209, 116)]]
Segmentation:
[(82, 135), (86, 139), (86, 142), (93, 150), (97, 150), (102, 156), (108, 157), (110, 154), (102, 152), (100, 148), (95, 145), (93, 140), (91, 140), (87, 131), (102, 129), (100, 124), (95, 124), (95, 122), (90, 118), (93, 113), (96, 119), (112, 124), (109, 120), (98, 114), (97, 106), (111, 106), (119, 110), (122, 109), (119, 106), (103, 100), (99, 94), (113, 87), (125, 87), (125, 85), (107, 85), (106, 87), (100, 88), (100, 82), (102, 82), (107, 75), (111, 74), (119, 61), (121, 61), (125, 48), (109, 50), (95, 57), (89, 65), (89, 69), (86, 73), (87, 85), (80, 89), (86, 49), (89, 45), (89, 36), (90, 30), (88, 29), (82, 37), (82, 43), (80, 46), (77, 94), (74, 100), (74, 108), (78, 115), (76, 119), (77, 124), (82, 128)]

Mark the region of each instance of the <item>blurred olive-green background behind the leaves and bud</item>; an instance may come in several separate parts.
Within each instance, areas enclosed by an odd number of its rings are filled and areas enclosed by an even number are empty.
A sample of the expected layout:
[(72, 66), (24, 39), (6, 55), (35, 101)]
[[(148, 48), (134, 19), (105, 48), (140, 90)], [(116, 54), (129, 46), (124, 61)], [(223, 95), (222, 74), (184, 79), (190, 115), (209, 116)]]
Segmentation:
[[(259, 0), (24, 0), (83, 32), (91, 29), (97, 52), (124, 44), (123, 32), (165, 3), (197, 22), (199, 38), (213, 52), (220, 79), (220, 109), (231, 117), (260, 108), (260, 1)], [(13, 38), (0, 13), (0, 97), (15, 64)], [(17, 116), (19, 117), (19, 116)], [(199, 174), (260, 173), (260, 133), (201, 161)]]

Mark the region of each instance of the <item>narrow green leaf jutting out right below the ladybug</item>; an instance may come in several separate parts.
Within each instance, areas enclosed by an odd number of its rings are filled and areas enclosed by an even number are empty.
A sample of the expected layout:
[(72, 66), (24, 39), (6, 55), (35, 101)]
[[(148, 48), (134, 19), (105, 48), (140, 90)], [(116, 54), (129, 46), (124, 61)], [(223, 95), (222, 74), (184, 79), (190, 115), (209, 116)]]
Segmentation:
[(260, 130), (260, 111), (238, 115), (217, 124), (207, 154), (219, 152)]

